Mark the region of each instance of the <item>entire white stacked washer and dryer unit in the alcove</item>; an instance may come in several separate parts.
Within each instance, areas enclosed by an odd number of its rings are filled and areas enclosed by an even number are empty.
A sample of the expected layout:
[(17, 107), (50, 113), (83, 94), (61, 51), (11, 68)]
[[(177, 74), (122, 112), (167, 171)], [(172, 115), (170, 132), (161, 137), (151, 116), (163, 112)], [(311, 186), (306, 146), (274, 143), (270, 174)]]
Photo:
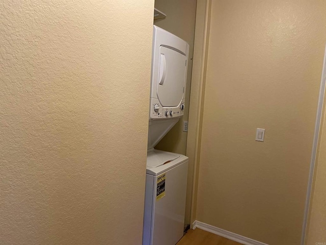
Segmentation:
[(183, 115), (189, 45), (153, 27), (143, 245), (175, 245), (183, 236), (188, 158), (154, 150)]

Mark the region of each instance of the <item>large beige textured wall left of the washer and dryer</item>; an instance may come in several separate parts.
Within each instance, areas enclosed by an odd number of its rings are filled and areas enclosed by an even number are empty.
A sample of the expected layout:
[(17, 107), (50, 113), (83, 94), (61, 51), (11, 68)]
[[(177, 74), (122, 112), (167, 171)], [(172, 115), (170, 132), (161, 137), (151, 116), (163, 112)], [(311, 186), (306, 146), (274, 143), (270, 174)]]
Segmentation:
[(0, 244), (141, 244), (153, 6), (0, 4)]

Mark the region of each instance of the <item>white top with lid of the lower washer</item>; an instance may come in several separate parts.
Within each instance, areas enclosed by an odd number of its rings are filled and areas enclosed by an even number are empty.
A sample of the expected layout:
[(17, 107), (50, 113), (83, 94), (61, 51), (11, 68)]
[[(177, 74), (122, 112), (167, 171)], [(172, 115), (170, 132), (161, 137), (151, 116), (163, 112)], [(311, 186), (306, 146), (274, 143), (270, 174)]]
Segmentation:
[(188, 157), (181, 154), (151, 150), (147, 152), (146, 174), (158, 176), (185, 161)]

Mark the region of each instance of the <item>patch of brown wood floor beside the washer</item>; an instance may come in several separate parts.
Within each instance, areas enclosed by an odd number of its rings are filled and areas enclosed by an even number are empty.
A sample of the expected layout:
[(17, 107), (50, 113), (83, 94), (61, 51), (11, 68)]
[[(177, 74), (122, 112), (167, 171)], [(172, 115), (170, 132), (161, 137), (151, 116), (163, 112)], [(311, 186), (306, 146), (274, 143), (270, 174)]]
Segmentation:
[(242, 245), (201, 229), (188, 230), (177, 245)]

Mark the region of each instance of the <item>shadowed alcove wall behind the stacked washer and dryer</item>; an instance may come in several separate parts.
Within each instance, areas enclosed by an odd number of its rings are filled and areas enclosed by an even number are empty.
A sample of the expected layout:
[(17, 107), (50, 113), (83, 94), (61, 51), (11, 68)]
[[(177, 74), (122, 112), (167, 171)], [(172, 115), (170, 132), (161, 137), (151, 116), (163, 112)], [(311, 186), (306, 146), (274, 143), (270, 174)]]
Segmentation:
[[(155, 8), (164, 12), (167, 17), (165, 19), (154, 20), (154, 24), (165, 29), (174, 35), (182, 38), (189, 44), (189, 57), (193, 58), (194, 36), (195, 36), (195, 20), (196, 20), (196, 0), (156, 0)], [(156, 145), (155, 149), (175, 152), (183, 155), (186, 154), (187, 132), (182, 131), (183, 120), (188, 120), (189, 97), (192, 81), (193, 59), (189, 60), (186, 84), (186, 101), (183, 117), (171, 129), (171, 131)], [(188, 164), (188, 180), (187, 180), (187, 197), (186, 197), (186, 215), (185, 224), (190, 224), (191, 202), (192, 202), (192, 186), (193, 186), (193, 162)]]

